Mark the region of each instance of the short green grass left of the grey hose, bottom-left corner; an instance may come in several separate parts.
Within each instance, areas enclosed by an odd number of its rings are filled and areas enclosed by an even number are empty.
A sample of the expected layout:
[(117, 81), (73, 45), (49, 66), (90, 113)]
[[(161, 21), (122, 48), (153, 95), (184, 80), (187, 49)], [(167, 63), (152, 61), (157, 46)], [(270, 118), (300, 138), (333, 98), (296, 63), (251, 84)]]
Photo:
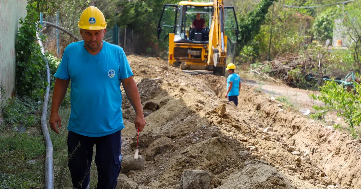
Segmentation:
[(0, 188), (43, 187), (45, 145), (42, 135), (10, 132), (0, 138)]

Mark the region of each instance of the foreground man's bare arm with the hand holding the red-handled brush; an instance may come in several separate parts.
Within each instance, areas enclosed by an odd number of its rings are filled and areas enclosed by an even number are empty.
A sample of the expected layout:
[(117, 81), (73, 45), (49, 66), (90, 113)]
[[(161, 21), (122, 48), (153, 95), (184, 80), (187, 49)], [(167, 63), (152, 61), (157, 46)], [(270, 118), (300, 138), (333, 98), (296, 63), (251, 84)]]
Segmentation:
[(125, 94), (127, 95), (130, 104), (135, 110), (135, 114), (136, 114), (134, 118), (135, 130), (138, 131), (139, 129), (139, 131), (143, 131), (143, 128), (145, 126), (145, 119), (143, 115), (142, 102), (140, 101), (138, 87), (136, 86), (133, 77), (122, 79), (121, 82), (123, 84)]

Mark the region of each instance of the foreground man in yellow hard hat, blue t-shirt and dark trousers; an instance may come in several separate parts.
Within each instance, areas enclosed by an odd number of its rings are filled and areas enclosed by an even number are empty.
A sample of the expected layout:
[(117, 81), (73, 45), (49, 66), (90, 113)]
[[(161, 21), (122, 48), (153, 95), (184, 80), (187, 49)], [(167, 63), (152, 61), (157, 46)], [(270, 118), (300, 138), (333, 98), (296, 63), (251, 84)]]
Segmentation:
[(59, 134), (57, 128), (62, 126), (58, 110), (71, 80), (67, 144), (73, 188), (89, 188), (96, 144), (97, 189), (114, 189), (121, 170), (121, 131), (125, 128), (121, 84), (136, 113), (136, 131), (143, 131), (145, 126), (142, 104), (123, 49), (103, 41), (106, 32), (103, 13), (94, 6), (88, 7), (78, 26), (83, 41), (73, 42), (64, 50), (55, 73), (49, 124)]

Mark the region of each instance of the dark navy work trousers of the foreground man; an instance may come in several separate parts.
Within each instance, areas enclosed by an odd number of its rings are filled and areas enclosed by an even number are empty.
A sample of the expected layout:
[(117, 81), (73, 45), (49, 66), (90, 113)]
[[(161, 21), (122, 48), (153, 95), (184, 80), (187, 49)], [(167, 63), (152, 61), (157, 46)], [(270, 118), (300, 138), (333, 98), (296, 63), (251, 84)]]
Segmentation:
[(97, 189), (114, 189), (116, 187), (122, 162), (121, 131), (102, 137), (88, 137), (69, 131), (67, 143), (68, 167), (74, 188), (86, 189), (90, 183), (94, 144), (96, 144)]

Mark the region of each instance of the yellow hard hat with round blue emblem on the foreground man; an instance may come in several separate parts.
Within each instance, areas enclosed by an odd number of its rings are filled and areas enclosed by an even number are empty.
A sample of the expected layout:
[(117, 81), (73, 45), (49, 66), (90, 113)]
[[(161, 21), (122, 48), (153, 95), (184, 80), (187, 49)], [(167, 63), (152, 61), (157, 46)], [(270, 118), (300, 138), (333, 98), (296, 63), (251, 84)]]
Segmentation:
[(78, 26), (84, 30), (102, 30), (106, 28), (104, 14), (95, 6), (89, 6), (80, 15)]

